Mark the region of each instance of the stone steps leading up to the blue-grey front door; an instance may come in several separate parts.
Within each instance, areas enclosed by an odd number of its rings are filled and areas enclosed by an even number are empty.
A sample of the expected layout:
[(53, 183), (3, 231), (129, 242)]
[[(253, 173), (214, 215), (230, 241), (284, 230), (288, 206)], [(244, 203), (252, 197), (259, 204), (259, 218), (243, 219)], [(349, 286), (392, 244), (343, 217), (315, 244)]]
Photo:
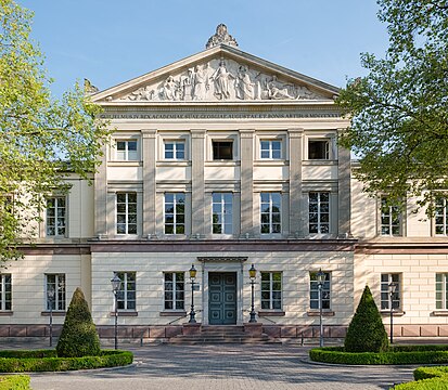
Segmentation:
[(179, 335), (169, 339), (174, 344), (268, 343), (276, 342), (266, 334), (254, 337), (238, 325), (203, 325), (195, 335)]

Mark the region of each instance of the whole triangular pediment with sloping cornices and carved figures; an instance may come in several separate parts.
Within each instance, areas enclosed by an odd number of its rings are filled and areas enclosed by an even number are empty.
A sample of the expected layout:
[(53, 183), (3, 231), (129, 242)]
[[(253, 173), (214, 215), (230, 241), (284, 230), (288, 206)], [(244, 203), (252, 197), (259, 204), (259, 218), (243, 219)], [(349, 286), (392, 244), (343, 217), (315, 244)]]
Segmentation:
[(95, 103), (332, 100), (337, 88), (220, 44), (92, 95)]

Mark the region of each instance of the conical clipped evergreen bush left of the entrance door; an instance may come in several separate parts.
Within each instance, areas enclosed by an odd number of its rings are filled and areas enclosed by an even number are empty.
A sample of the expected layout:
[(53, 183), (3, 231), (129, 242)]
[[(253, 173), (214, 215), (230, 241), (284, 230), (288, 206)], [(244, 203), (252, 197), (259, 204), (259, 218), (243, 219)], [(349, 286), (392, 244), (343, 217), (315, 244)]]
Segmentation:
[(100, 338), (79, 287), (73, 294), (56, 352), (61, 358), (97, 356), (101, 353)]

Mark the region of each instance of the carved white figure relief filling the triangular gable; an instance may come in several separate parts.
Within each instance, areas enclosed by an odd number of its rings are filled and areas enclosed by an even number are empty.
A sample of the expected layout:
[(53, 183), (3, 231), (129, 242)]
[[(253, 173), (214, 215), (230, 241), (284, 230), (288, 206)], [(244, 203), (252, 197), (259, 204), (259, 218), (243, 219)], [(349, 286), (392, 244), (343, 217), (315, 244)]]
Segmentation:
[(233, 60), (215, 58), (121, 98), (128, 101), (253, 101), (325, 99)]

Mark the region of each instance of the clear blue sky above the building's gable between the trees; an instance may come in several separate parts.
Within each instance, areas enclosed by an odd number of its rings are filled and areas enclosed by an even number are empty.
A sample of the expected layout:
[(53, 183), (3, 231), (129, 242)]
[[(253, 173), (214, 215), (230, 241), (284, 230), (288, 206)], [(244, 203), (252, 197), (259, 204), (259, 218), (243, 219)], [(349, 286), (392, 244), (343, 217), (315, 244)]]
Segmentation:
[(205, 49), (223, 23), (239, 49), (344, 87), (360, 53), (382, 56), (375, 0), (16, 0), (35, 12), (31, 37), (61, 95), (88, 78), (100, 90)]

